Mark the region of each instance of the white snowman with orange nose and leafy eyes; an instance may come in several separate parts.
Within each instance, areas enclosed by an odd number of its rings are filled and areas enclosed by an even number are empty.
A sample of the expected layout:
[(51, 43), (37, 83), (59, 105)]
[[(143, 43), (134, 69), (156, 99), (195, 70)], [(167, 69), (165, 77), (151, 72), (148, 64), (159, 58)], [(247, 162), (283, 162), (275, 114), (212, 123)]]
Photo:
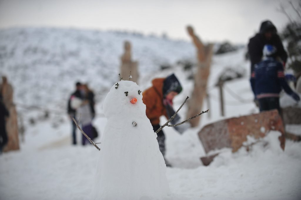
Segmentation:
[(142, 92), (117, 82), (104, 100), (107, 118), (93, 199), (163, 200), (170, 193), (157, 135), (145, 114)]

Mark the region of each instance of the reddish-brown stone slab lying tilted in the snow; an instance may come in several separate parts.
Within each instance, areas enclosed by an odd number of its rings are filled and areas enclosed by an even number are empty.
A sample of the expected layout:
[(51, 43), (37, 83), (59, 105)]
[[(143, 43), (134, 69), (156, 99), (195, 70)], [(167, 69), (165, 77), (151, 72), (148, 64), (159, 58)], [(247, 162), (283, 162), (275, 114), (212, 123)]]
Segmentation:
[(236, 152), (247, 140), (247, 135), (265, 137), (271, 130), (281, 133), (279, 141), (284, 150), (284, 127), (277, 110), (215, 122), (202, 128), (198, 135), (206, 153), (224, 147), (230, 147), (232, 152)]

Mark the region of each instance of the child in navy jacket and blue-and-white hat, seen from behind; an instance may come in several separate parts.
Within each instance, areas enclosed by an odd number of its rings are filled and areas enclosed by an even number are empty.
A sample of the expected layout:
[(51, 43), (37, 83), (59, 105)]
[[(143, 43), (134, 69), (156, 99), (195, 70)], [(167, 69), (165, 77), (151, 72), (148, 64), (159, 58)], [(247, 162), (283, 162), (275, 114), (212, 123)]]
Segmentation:
[(281, 114), (279, 93), (282, 88), (294, 100), (299, 101), (300, 97), (292, 91), (285, 80), (283, 65), (276, 60), (278, 55), (276, 47), (265, 45), (263, 55), (262, 61), (255, 65), (251, 75), (252, 90), (259, 101), (260, 112), (278, 109)]

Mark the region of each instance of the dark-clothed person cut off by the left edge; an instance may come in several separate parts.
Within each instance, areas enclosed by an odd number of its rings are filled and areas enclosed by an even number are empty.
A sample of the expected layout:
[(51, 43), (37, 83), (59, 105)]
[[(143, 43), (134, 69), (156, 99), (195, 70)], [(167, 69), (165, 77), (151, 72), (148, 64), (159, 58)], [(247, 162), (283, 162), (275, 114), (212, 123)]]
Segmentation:
[(7, 132), (5, 128), (5, 117), (9, 116), (9, 112), (6, 109), (4, 103), (2, 102), (2, 96), (0, 95), (0, 153), (2, 152), (3, 147), (8, 142)]

